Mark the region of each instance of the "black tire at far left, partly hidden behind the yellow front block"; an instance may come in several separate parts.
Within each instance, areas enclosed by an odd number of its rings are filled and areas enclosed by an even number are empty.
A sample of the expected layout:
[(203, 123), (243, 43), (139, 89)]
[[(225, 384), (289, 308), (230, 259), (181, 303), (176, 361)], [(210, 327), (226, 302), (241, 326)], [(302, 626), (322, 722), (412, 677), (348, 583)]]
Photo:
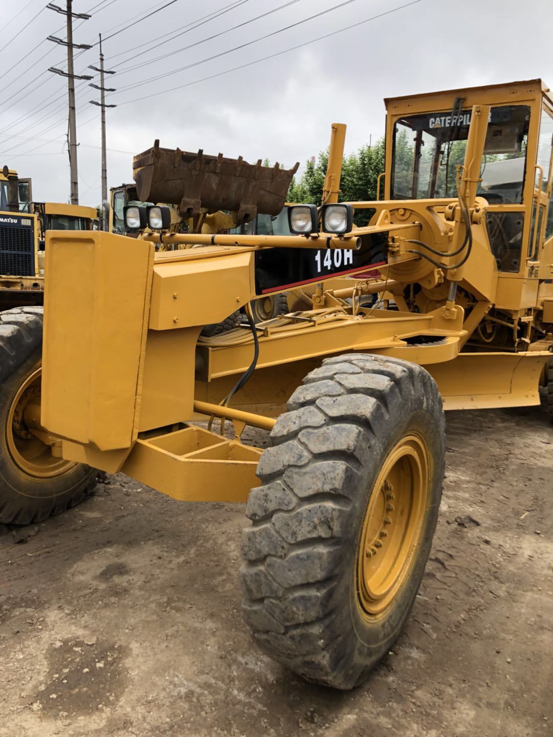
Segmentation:
[[(74, 506), (94, 492), (97, 471), (83, 464), (63, 464), (52, 475), (32, 475), (18, 464), (12, 452), (13, 422), (8, 422), (10, 408), (21, 387), (36, 376), (42, 355), (42, 307), (18, 307), (0, 312), (0, 523), (40, 522)], [(38, 388), (35, 391), (39, 391)], [(20, 422), (19, 432), (27, 430)], [(40, 445), (32, 439), (35, 446)], [(21, 438), (18, 436), (18, 442)], [(26, 441), (23, 440), (23, 443)], [(47, 449), (44, 446), (44, 457)], [(51, 454), (50, 454), (51, 455)], [(58, 467), (56, 467), (58, 468)]]

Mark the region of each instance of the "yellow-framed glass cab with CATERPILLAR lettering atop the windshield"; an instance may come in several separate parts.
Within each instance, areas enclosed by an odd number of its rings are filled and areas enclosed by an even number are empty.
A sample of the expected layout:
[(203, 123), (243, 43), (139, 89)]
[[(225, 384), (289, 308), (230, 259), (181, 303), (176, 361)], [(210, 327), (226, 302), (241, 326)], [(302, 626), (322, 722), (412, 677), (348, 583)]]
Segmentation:
[(472, 107), (491, 106), (477, 196), (487, 200), (487, 234), (498, 272), (532, 272), (544, 248), (553, 250), (549, 88), (530, 80), (386, 99), (385, 104), (385, 198), (391, 200), (456, 198)]

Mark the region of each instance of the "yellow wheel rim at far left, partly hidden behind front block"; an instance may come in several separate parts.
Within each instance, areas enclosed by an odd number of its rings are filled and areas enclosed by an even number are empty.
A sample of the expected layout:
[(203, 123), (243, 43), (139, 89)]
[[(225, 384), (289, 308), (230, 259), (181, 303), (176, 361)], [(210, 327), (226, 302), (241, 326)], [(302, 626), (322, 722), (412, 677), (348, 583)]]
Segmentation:
[(41, 393), (41, 367), (29, 371), (13, 398), (7, 413), (7, 450), (18, 469), (35, 479), (50, 479), (74, 467), (72, 461), (55, 458), (49, 445), (30, 432), (25, 425), (24, 412), (30, 401)]

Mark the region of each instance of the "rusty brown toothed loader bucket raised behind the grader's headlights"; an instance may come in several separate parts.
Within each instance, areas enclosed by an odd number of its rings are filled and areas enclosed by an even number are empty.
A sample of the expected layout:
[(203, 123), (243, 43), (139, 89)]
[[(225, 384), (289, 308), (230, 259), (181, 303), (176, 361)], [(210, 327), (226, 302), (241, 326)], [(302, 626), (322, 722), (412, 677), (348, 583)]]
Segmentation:
[(133, 178), (139, 200), (178, 205), (181, 217), (195, 217), (201, 209), (235, 213), (237, 224), (257, 213), (276, 215), (284, 206), (299, 162), (291, 169), (248, 164), (241, 156), (206, 156), (161, 148), (159, 141), (133, 159)]

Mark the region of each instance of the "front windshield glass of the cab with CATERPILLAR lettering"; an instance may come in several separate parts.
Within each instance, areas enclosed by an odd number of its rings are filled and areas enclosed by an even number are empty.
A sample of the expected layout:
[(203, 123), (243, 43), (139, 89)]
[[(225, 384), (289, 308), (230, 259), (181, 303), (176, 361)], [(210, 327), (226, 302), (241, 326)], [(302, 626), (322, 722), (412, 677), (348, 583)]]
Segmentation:
[[(465, 161), (470, 110), (424, 113), (394, 125), (392, 199), (456, 197), (457, 164)], [(490, 204), (521, 203), (530, 108), (492, 108), (478, 195)]]

